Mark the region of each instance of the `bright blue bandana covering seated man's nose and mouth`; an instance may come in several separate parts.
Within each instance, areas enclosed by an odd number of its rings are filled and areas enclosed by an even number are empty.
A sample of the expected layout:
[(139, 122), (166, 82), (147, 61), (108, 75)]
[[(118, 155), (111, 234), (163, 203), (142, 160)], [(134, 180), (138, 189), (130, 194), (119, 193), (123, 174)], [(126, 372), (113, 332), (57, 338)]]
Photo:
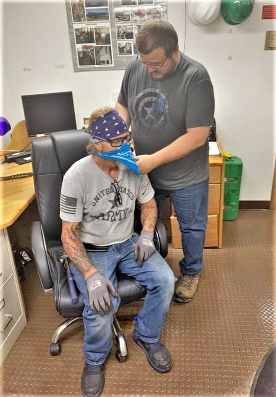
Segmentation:
[(93, 151), (93, 154), (108, 160), (120, 161), (121, 163), (126, 165), (132, 172), (134, 172), (137, 178), (140, 178), (139, 169), (133, 157), (129, 142), (125, 142), (122, 146), (115, 150), (112, 150), (111, 152), (99, 153)]

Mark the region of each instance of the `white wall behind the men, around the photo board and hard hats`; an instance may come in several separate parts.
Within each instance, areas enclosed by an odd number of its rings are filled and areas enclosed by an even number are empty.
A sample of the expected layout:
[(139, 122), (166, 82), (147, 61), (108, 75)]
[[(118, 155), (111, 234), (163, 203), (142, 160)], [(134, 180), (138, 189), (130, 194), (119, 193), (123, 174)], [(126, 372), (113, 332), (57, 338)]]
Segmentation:
[[(21, 95), (72, 91), (78, 128), (94, 108), (112, 105), (112, 92), (119, 90), (123, 71), (73, 72), (63, 0), (1, 1), (0, 105), (1, 116), (12, 127), (24, 118)], [(228, 25), (220, 16), (202, 27), (189, 21), (184, 1), (168, 0), (168, 20), (178, 32), (180, 49), (185, 43), (185, 53), (203, 63), (212, 78), (223, 149), (243, 160), (240, 200), (270, 200), (272, 184), (276, 53), (264, 51), (264, 40), (265, 31), (276, 27), (273, 20), (261, 19), (263, 4), (273, 2), (257, 0), (252, 15), (240, 25)], [(58, 64), (65, 68), (56, 69)], [(23, 72), (24, 67), (32, 71)], [(5, 139), (7, 144), (7, 135)]]

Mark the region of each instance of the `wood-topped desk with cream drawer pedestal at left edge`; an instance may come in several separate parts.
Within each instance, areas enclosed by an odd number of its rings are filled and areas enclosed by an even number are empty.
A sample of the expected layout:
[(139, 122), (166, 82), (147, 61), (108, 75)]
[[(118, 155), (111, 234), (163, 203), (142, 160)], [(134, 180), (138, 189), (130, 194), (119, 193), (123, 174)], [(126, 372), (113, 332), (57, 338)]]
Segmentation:
[[(32, 172), (32, 163), (0, 165), (0, 176)], [(0, 365), (27, 324), (7, 227), (34, 200), (33, 177), (0, 181)]]

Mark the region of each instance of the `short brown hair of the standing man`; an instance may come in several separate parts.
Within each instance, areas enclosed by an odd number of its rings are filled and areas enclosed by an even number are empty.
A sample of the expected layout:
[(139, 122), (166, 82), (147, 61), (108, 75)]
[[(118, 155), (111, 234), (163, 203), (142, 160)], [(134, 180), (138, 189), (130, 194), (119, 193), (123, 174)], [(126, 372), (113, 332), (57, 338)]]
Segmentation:
[(178, 45), (178, 35), (174, 27), (164, 20), (148, 21), (139, 29), (136, 46), (141, 54), (149, 54), (162, 47), (169, 58)]

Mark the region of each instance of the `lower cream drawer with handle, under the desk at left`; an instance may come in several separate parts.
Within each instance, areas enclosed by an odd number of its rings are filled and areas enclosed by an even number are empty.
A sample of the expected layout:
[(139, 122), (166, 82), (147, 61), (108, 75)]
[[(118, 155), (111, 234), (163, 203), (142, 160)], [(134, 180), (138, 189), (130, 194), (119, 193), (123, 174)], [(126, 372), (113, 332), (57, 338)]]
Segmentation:
[(0, 290), (0, 345), (22, 316), (22, 309), (12, 276)]

